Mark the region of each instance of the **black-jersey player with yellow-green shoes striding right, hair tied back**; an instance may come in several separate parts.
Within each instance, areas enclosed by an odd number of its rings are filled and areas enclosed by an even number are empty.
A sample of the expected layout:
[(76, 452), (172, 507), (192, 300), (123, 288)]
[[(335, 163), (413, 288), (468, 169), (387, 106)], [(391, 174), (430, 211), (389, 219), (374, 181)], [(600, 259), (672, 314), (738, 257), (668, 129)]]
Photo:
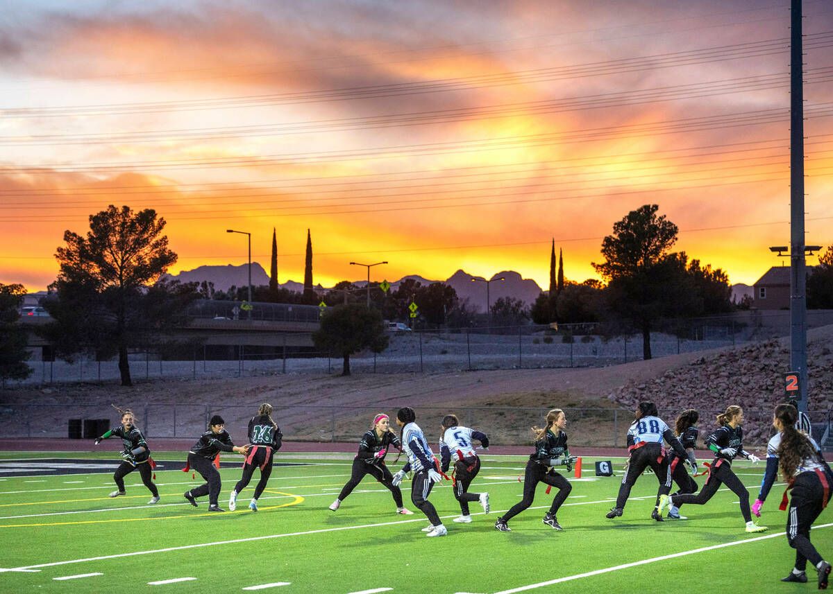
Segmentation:
[(755, 454), (746, 452), (743, 448), (743, 409), (739, 406), (730, 406), (726, 412), (717, 415), (717, 423), (720, 425), (714, 433), (706, 438), (706, 446), (715, 453), (715, 459), (709, 468), (709, 478), (701, 488), (700, 493), (685, 493), (668, 497), (660, 497), (660, 511), (666, 507), (680, 507), (683, 503), (703, 505), (717, 493), (721, 483), (731, 489), (741, 500), (741, 513), (746, 521), (746, 532), (764, 532), (766, 526), (757, 526), (752, 522), (752, 514), (749, 507), (749, 491), (741, 483), (741, 479), (731, 470), (731, 461), (741, 455), (753, 463), (759, 462)]

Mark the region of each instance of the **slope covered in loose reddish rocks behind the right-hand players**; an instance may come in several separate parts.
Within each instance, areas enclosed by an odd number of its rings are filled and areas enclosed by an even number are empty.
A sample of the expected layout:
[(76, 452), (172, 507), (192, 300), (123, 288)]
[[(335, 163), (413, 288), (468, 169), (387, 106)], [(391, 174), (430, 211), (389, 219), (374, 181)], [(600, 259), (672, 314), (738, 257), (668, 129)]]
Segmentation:
[[(824, 422), (833, 408), (833, 328), (808, 333), (809, 413), (813, 423)], [(668, 411), (666, 421), (685, 408), (701, 412), (701, 434), (714, 426), (713, 413), (739, 404), (746, 416), (750, 443), (761, 443), (771, 433), (772, 409), (784, 402), (784, 374), (790, 369), (789, 339), (774, 339), (697, 357), (645, 381), (630, 379), (608, 396), (624, 408), (653, 400)]]

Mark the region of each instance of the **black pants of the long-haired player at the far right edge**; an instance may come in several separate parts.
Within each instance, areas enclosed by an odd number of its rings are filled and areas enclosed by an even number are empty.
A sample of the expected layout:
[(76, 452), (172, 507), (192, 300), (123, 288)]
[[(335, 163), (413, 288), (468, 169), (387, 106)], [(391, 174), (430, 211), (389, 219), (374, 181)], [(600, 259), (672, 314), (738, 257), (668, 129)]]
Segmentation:
[(808, 470), (793, 483), (790, 508), (787, 510), (786, 540), (796, 549), (796, 569), (804, 570), (807, 562), (819, 564), (821, 555), (810, 542), (810, 527), (823, 509), (825, 489), (818, 475)]

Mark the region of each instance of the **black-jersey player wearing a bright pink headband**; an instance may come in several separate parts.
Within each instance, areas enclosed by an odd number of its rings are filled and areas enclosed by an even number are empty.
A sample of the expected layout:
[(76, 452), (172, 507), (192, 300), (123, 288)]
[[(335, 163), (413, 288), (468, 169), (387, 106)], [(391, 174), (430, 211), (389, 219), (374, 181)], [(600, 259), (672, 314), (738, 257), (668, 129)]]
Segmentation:
[(384, 413), (377, 414), (373, 418), (371, 429), (362, 435), (362, 440), (359, 442), (359, 451), (356, 458), (353, 458), (350, 480), (344, 485), (336, 501), (330, 505), (332, 512), (335, 512), (342, 505), (342, 502), (347, 499), (347, 495), (352, 493), (358, 483), (362, 482), (362, 478), (370, 474), (392, 493), (393, 501), (397, 504), (397, 513), (408, 516), (413, 514), (402, 503), (402, 489), (393, 484), (393, 475), (385, 464), (385, 455), (391, 446), (402, 450), (402, 443), (397, 438), (397, 434), (393, 433), (390, 428), (390, 418)]

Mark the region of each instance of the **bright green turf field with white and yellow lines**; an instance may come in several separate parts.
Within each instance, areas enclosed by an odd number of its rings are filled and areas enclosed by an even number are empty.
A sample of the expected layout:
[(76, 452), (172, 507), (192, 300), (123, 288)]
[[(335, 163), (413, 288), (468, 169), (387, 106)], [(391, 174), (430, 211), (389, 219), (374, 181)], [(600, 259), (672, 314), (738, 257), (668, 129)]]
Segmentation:
[[(182, 453), (154, 458), (183, 460)], [(62, 454), (66, 458), (107, 456)], [(55, 454), (2, 453), (0, 462)], [(235, 458), (242, 457), (235, 456)], [(223, 460), (232, 456), (223, 454)], [(367, 477), (337, 512), (327, 509), (350, 475), (352, 456), (292, 458), (303, 463), (275, 468), (260, 511), (247, 508), (258, 474), (238, 499), (237, 512), (207, 512), (207, 497), (191, 507), (182, 493), (202, 481), (178, 469), (157, 472), (162, 501), (138, 474), (127, 476), (127, 496), (109, 498), (112, 472), (12, 478), (0, 473), (0, 592), (393, 592), (405, 594), (494, 594), (496, 592), (679, 592), (745, 594), (806, 592), (810, 582), (782, 584), (794, 561), (784, 536), (786, 513), (778, 511), (783, 488), (768, 498), (763, 534), (746, 534), (736, 497), (721, 490), (706, 506), (683, 507), (686, 521), (649, 518), (656, 478), (636, 483), (624, 517), (608, 520), (621, 480), (621, 459), (612, 478), (596, 478), (583, 460), (584, 477), (558, 514), (564, 532), (541, 522), (551, 497), (540, 485), (532, 507), (513, 518), (513, 532), (493, 527), (500, 513), (519, 501), (521, 457), (485, 453), (471, 490), (488, 491), (491, 513), (471, 504), (471, 524), (451, 522), (459, 507), (450, 483), (435, 486), (430, 500), (443, 517), (447, 537), (426, 538), (427, 522), (394, 513), (392, 497)], [(738, 461), (736, 473), (757, 494), (763, 465)], [(588, 471), (589, 469), (589, 471)], [(396, 470), (396, 468), (394, 468)], [(221, 507), (240, 478), (222, 470)], [(572, 473), (570, 475), (571, 481)], [(696, 479), (702, 484), (703, 478)], [(816, 521), (813, 542), (833, 558), (830, 509)], [(9, 571), (12, 570), (12, 571)], [(37, 570), (37, 571), (34, 571)], [(65, 578), (65, 579), (60, 579)], [(66, 579), (69, 578), (69, 579)], [(190, 578), (190, 579), (184, 579)], [(166, 582), (153, 584), (152, 582)]]

